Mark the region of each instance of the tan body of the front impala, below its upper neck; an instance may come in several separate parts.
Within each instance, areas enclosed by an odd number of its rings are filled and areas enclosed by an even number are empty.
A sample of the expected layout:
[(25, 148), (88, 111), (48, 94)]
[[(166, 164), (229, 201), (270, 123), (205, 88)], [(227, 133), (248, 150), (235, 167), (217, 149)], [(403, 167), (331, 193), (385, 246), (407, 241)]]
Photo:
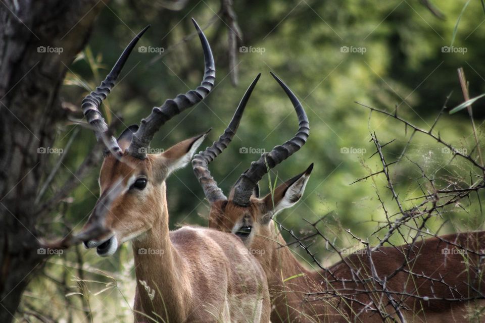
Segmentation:
[[(266, 277), (236, 237), (198, 227), (165, 233), (168, 228), (156, 224), (133, 240), (135, 312), (152, 317), (156, 312), (169, 322), (269, 321)], [(156, 291), (153, 299), (140, 280)], [(147, 320), (141, 314), (135, 317)]]

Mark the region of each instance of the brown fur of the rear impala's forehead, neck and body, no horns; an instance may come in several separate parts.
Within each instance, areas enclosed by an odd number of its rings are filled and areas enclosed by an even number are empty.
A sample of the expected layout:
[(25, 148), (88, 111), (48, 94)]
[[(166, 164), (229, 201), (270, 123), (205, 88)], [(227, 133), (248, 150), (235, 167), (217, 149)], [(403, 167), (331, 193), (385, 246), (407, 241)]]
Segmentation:
[[(284, 184), (283, 184), (284, 185)], [(284, 195), (284, 187), (275, 191), (274, 203)], [(211, 207), (209, 227), (225, 232), (231, 232), (234, 226), (245, 219), (253, 226), (253, 233), (245, 240), (245, 245), (251, 250), (264, 250), (256, 254), (268, 279), (273, 310), (271, 321), (274, 322), (381, 322), (383, 319), (373, 311), (363, 310), (359, 302), (367, 304), (374, 300), (379, 304), (383, 297), (384, 306), (388, 299), (382, 293), (356, 293), (356, 291), (372, 291), (378, 286), (372, 283), (355, 283), (354, 273), (359, 272), (361, 279), (372, 277), (369, 268), (369, 257), (365, 251), (352, 254), (344, 260), (334, 264), (324, 271), (308, 271), (294, 257), (292, 252), (284, 246), (286, 243), (275, 225), (266, 224), (265, 214), (272, 209), (273, 201), (268, 196), (263, 199), (253, 197), (248, 207), (240, 207), (229, 201), (216, 202)], [(249, 220), (248, 220), (249, 216)], [(476, 254), (468, 252), (467, 256), (458, 253), (443, 254), (444, 248), (452, 249), (453, 245), (468, 246), (470, 250), (483, 253), (485, 250), (485, 232), (452, 234), (440, 238), (423, 239), (417, 241), (407, 256), (406, 271), (418, 276), (410, 276), (400, 271), (387, 282), (387, 288), (394, 291), (396, 300), (405, 302), (408, 310), (403, 313), (408, 321), (413, 322), (462, 322), (470, 317), (474, 306), (485, 306), (483, 300), (447, 301), (407, 297), (400, 293), (419, 295), (421, 297), (438, 299), (472, 298), (477, 293), (470, 286), (480, 292), (485, 292), (485, 282), (481, 274), (476, 273), (478, 265), (483, 270)], [(380, 278), (392, 274), (403, 265), (408, 245), (399, 247), (382, 247), (372, 252), (372, 260)], [(467, 265), (465, 262), (468, 262)], [(437, 281), (431, 282), (419, 277), (425, 275)], [(297, 277), (295, 277), (297, 276)], [(293, 279), (288, 279), (295, 277)], [(452, 286), (449, 286), (439, 280)], [(340, 281), (339, 281), (340, 280)], [(342, 280), (348, 280), (345, 285)], [(375, 283), (374, 283), (375, 284)], [(469, 285), (467, 285), (469, 284)], [(417, 287), (417, 288), (416, 288)], [(434, 294), (433, 294), (434, 292)], [(312, 294), (313, 293), (313, 294)], [(315, 294), (317, 293), (317, 294)], [(346, 295), (347, 297), (334, 297)], [(356, 301), (349, 300), (356, 295)], [(394, 313), (392, 306), (387, 305), (387, 313)], [(396, 319), (397, 316), (393, 315)], [(480, 318), (481, 321), (483, 317)]]

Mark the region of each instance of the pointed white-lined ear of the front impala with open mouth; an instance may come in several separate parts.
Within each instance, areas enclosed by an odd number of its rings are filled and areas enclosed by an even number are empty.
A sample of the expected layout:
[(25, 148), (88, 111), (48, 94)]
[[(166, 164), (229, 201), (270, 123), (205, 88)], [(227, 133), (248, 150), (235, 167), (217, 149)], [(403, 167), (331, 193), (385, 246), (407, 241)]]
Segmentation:
[(190, 163), (192, 156), (196, 153), (204, 139), (206, 139), (208, 133), (209, 131), (205, 134), (181, 141), (161, 153), (168, 170), (166, 176)]

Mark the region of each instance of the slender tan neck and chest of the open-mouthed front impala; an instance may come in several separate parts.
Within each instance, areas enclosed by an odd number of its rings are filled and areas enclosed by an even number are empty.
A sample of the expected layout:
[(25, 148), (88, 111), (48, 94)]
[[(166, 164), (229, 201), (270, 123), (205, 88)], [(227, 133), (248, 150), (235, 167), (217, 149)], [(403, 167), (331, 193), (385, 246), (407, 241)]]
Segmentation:
[(155, 319), (160, 315), (165, 321), (179, 322), (185, 318), (188, 284), (184, 284), (183, 261), (170, 241), (165, 187), (164, 182), (158, 199), (161, 203), (155, 203), (157, 206), (153, 209), (159, 214), (153, 227), (132, 243), (139, 297), (135, 304), (142, 306), (135, 310)]

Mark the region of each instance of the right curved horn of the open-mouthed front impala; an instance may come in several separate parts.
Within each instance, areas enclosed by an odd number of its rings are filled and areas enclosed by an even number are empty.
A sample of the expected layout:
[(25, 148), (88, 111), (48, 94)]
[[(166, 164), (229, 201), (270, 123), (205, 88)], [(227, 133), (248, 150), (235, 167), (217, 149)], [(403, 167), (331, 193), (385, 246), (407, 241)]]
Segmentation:
[(140, 128), (133, 134), (133, 139), (128, 147), (128, 153), (133, 157), (144, 159), (147, 157), (147, 151), (150, 147), (155, 133), (168, 120), (178, 115), (185, 109), (202, 101), (212, 90), (216, 78), (214, 58), (212, 57), (211, 46), (206, 36), (202, 32), (197, 22), (192, 18), (193, 25), (196, 26), (199, 38), (201, 39), (204, 51), (205, 71), (204, 79), (196, 90), (190, 90), (185, 94), (179, 94), (174, 99), (166, 100), (162, 106), (153, 108), (152, 113), (146, 119), (141, 120)]

